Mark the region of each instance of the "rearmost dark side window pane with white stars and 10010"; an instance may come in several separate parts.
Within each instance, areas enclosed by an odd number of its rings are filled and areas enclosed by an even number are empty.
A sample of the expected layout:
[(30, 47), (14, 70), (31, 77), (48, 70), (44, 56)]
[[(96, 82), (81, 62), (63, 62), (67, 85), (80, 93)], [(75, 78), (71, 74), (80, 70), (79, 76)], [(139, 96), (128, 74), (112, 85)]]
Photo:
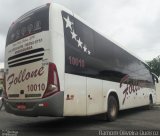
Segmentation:
[(93, 31), (73, 16), (62, 12), (65, 36), (65, 72), (86, 75), (87, 56), (94, 53)]

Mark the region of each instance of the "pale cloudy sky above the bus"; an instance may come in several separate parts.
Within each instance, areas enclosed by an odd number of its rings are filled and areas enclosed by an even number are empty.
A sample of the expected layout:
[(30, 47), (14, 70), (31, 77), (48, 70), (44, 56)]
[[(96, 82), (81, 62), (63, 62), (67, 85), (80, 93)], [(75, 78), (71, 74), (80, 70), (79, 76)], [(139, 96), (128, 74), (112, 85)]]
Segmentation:
[(69, 8), (144, 61), (160, 55), (160, 0), (0, 0), (0, 63), (11, 23), (50, 2)]

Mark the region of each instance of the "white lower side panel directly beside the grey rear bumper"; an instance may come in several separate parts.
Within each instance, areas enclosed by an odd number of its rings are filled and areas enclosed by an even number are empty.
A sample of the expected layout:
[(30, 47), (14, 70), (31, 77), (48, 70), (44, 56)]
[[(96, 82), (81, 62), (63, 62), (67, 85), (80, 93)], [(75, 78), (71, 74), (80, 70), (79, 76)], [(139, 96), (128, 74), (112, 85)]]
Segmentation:
[(86, 77), (65, 74), (64, 116), (85, 116), (86, 108)]

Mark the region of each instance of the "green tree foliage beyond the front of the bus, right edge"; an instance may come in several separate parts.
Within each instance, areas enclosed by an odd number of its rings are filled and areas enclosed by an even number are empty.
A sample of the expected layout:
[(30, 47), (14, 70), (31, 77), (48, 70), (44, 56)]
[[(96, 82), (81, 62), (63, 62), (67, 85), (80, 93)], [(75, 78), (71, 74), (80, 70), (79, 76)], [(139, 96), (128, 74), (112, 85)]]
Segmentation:
[(155, 73), (158, 77), (160, 76), (160, 56), (148, 61), (147, 64), (150, 66), (151, 71)]

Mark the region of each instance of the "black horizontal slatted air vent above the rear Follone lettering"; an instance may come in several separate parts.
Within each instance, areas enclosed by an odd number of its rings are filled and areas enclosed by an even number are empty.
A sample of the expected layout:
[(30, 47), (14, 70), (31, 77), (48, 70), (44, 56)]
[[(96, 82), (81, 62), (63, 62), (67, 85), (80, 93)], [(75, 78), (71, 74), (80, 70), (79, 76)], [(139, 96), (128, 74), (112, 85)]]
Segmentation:
[(23, 52), (12, 57), (8, 58), (8, 66), (9, 67), (16, 67), (21, 66), (29, 63), (33, 63), (36, 61), (40, 61), (43, 59), (44, 49), (38, 48), (34, 50), (30, 50), (27, 52)]

